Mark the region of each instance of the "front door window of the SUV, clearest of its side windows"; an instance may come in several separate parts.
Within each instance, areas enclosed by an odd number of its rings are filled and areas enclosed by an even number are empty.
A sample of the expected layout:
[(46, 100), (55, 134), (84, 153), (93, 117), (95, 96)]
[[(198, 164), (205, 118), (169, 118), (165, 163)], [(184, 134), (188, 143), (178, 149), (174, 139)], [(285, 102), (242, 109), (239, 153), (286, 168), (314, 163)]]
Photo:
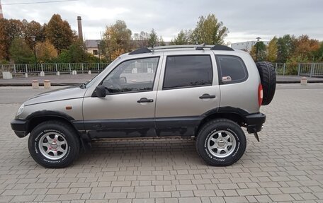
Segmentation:
[(109, 93), (152, 91), (159, 57), (132, 59), (119, 64), (102, 81)]

